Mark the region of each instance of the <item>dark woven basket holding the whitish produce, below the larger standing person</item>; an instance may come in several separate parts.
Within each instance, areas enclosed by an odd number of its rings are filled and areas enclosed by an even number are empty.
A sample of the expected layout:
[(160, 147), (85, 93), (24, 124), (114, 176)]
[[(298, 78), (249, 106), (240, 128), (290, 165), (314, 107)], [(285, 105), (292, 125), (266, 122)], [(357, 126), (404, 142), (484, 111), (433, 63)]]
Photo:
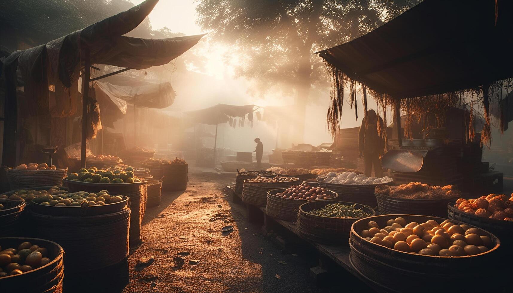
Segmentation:
[[(339, 193), (339, 201), (359, 203), (371, 207), (378, 206), (378, 201), (374, 195), (374, 188), (381, 184), (333, 184), (317, 180), (319, 186)], [(387, 182), (387, 184), (393, 181)]]

